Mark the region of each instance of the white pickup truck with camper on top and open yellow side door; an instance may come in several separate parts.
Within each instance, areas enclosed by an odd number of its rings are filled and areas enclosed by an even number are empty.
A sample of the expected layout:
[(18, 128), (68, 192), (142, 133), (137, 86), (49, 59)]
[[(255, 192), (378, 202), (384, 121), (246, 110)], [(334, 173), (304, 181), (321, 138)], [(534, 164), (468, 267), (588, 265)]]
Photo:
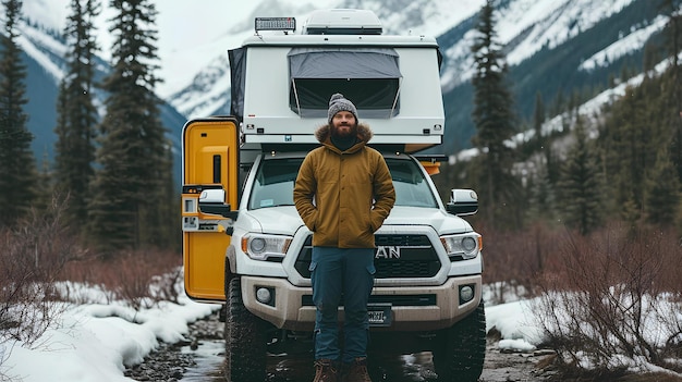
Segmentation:
[(461, 218), (477, 196), (452, 189), (443, 204), (431, 181), (442, 156), (419, 155), (443, 137), (436, 40), (383, 35), (360, 10), (318, 11), (295, 29), (292, 17), (257, 19), (256, 35), (230, 50), (232, 115), (183, 128), (185, 291), (224, 303), (228, 380), (261, 382), (268, 353), (312, 350), (312, 232), (293, 185), (330, 95), (342, 93), (397, 194), (376, 232), (369, 354), (431, 352), (439, 381), (477, 381), (483, 241)]

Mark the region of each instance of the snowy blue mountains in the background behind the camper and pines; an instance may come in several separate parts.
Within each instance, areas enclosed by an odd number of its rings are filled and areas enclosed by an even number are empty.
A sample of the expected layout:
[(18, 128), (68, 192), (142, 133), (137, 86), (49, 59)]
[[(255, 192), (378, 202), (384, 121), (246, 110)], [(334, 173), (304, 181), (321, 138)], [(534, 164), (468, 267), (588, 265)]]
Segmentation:
[[(473, 60), (470, 51), (476, 15), (485, 0), (252, 0), (226, 2), (157, 0), (159, 76), (166, 100), (163, 122), (176, 144), (186, 119), (229, 113), (230, 76), (227, 51), (252, 35), (255, 16), (295, 16), (303, 25), (316, 9), (370, 9), (388, 34), (436, 36), (444, 56), (441, 83), (446, 101), (444, 153), (471, 146)], [(70, 10), (69, 0), (28, 0), (21, 45), (28, 66), (29, 128), (37, 157), (51, 157), (57, 86), (66, 48), (58, 37)], [(198, 5), (197, 5), (198, 4)], [(101, 65), (107, 71), (111, 36), (105, 4), (99, 16)], [(198, 10), (197, 10), (198, 8)], [(499, 41), (506, 47), (510, 84), (522, 120), (535, 97), (546, 103), (559, 93), (587, 86), (606, 88), (624, 66), (641, 71), (643, 47), (660, 38), (666, 19), (651, 0), (499, 0)], [(179, 147), (179, 146), (178, 146)]]

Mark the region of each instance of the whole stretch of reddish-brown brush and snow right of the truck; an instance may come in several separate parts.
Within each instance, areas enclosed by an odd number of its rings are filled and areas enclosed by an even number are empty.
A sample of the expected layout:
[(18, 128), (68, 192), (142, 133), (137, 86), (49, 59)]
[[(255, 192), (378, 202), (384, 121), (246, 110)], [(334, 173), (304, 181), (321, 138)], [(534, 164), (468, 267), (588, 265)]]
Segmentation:
[[(674, 230), (610, 225), (588, 236), (537, 225), (482, 232), (492, 303), (519, 288), (535, 307), (567, 381), (679, 381), (632, 374), (613, 355), (642, 357), (678, 373), (682, 359), (682, 245)], [(677, 308), (675, 308), (677, 307)], [(672, 310), (671, 310), (672, 309)], [(675, 312), (677, 309), (677, 312)], [(655, 328), (658, 337), (649, 335)], [(663, 334), (665, 333), (665, 334)], [(580, 367), (588, 359), (592, 367)]]

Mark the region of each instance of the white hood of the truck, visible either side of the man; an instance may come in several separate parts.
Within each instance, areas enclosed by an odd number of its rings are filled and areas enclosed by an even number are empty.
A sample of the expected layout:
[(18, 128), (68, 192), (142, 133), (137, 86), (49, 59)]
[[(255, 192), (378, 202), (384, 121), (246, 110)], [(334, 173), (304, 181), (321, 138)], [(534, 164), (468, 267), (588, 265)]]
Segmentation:
[[(279, 235), (293, 235), (303, 220), (293, 206), (261, 208), (243, 212), (240, 223), (247, 231)], [(473, 231), (471, 224), (462, 218), (447, 213), (438, 208), (417, 208), (395, 206), (383, 222), (383, 227), (395, 229), (400, 225), (427, 225), (437, 233), (462, 233)]]

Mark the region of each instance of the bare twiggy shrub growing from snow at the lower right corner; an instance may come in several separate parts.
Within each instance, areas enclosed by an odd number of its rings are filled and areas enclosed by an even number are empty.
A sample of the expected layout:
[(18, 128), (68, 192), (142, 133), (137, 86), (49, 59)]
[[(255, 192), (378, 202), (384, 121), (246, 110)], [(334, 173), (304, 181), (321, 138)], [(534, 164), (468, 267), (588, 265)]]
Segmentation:
[(619, 227), (567, 236), (562, 268), (538, 278), (539, 321), (561, 360), (605, 370), (633, 359), (670, 367), (666, 359), (682, 344), (675, 242), (672, 232)]

